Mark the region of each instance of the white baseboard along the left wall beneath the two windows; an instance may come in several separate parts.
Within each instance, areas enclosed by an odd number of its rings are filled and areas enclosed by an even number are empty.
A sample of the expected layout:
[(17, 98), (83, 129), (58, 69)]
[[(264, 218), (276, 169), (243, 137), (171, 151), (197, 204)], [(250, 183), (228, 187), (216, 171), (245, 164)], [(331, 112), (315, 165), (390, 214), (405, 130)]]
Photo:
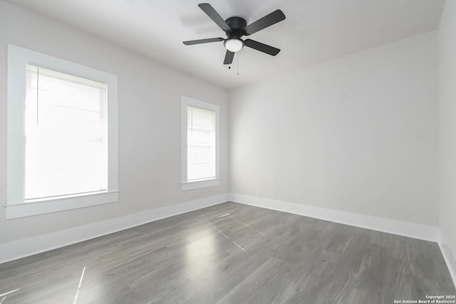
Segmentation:
[(61, 248), (88, 239), (94, 239), (98, 236), (112, 234), (117, 231), (129, 229), (151, 221), (165, 219), (177, 214), (221, 204), (227, 200), (227, 194), (210, 196), (204, 199), (195, 199), (193, 201), (186, 201), (182, 204), (151, 209), (137, 214), (130, 214), (115, 219), (108, 219), (107, 221), (99, 221), (93, 224), (57, 231), (52, 234), (43, 234), (41, 236), (21, 239), (10, 243), (2, 243), (0, 244), (0, 263), (32, 256), (36, 253)]

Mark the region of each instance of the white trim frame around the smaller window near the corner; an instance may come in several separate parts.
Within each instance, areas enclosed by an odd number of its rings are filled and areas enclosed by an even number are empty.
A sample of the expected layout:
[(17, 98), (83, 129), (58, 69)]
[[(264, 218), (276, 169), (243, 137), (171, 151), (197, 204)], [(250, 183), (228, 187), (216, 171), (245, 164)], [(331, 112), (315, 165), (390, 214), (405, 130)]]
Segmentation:
[[(193, 106), (215, 112), (215, 178), (202, 181), (189, 182), (187, 180), (187, 107)], [(182, 96), (181, 108), (182, 121), (182, 191), (214, 187), (220, 184), (220, 107), (212, 103)]]

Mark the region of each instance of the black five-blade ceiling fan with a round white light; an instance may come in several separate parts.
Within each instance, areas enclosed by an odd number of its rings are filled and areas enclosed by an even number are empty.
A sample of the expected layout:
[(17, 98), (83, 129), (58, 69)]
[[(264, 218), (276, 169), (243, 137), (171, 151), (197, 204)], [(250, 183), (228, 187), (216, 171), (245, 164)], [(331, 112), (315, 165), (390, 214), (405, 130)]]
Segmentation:
[(212, 19), (212, 21), (217, 23), (217, 26), (219, 26), (219, 28), (222, 28), (222, 30), (227, 34), (228, 38), (207, 38), (184, 41), (183, 43), (186, 46), (223, 41), (225, 48), (227, 48), (227, 53), (225, 54), (223, 64), (231, 64), (233, 62), (234, 53), (240, 51), (244, 46), (254, 48), (257, 51), (269, 54), (271, 56), (276, 56), (280, 52), (279, 48), (274, 48), (273, 46), (268, 46), (264, 43), (254, 41), (252, 39), (241, 39), (242, 36), (252, 35), (252, 33), (257, 33), (257, 31), (261, 31), (268, 26), (284, 20), (285, 15), (280, 9), (273, 11), (271, 14), (258, 19), (254, 23), (250, 23), (247, 26), (247, 21), (241, 17), (233, 16), (229, 17), (227, 20), (223, 20), (219, 13), (217, 13), (217, 11), (215, 11), (215, 9), (208, 3), (198, 4), (198, 6), (200, 9), (202, 9), (202, 11), (204, 11), (204, 13), (207, 14), (207, 16), (209, 16), (210, 19)]

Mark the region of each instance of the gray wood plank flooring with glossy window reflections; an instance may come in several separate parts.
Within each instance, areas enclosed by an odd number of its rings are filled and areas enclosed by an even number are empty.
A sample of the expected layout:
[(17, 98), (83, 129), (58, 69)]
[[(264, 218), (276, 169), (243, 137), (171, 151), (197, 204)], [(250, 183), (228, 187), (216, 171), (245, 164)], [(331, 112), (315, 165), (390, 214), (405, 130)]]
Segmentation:
[(0, 304), (389, 304), (455, 294), (436, 243), (232, 202), (0, 265)]

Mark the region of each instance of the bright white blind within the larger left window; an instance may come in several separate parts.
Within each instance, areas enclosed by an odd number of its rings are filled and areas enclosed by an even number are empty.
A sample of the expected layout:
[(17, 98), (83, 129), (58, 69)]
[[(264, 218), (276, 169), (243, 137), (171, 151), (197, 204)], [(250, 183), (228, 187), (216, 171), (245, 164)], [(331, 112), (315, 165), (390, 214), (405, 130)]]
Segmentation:
[(25, 199), (108, 187), (107, 85), (26, 65)]

